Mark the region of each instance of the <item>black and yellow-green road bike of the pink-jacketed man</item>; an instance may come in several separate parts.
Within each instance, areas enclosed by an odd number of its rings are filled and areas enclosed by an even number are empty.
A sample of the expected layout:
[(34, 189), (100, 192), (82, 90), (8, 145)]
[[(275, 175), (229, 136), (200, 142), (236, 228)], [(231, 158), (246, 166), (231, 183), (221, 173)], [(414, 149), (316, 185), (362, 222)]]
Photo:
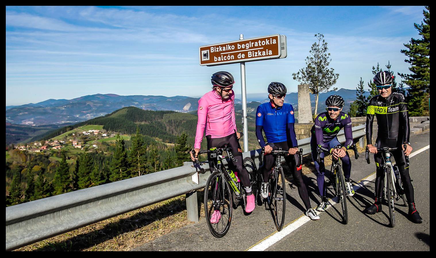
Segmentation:
[[(225, 145), (222, 148), (212, 147), (209, 150), (201, 150), (198, 154), (209, 153), (213, 160), (214, 167), (211, 169), (211, 175), (206, 182), (204, 188), (204, 214), (208, 223), (209, 230), (216, 238), (222, 238), (227, 234), (232, 222), (233, 202), (234, 198), (243, 200), (245, 209), (246, 193), (242, 183), (235, 176), (235, 173), (226, 168), (223, 152), (228, 154), (228, 158), (233, 162), (237, 162), (232, 154), (231, 148)], [(192, 151), (194, 155), (195, 152)], [(194, 161), (198, 165), (202, 165), (201, 161)], [(250, 183), (255, 185), (257, 181), (257, 172), (254, 166), (254, 161), (250, 157), (245, 157), (243, 160), (244, 166), (249, 172)], [(253, 194), (257, 194), (257, 187), (252, 187)], [(235, 197), (233, 197), (235, 195)], [(256, 195), (255, 195), (256, 196)], [(220, 218), (216, 223), (211, 222), (211, 216), (219, 211)]]

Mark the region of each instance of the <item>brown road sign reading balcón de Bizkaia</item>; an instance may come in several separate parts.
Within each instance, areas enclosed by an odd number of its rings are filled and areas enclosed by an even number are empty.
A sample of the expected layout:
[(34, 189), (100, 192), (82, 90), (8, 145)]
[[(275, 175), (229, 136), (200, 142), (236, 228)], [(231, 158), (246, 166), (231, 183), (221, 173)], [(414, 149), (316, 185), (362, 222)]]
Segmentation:
[(279, 34), (200, 47), (200, 65), (207, 66), (283, 57), (286, 37)]

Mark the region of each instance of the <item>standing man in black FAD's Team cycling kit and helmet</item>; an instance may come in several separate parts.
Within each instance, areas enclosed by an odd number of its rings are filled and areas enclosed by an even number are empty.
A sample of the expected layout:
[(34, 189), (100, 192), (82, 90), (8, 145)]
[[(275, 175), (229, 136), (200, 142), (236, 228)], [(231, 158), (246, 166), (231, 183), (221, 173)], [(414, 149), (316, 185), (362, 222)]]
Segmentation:
[[(367, 214), (381, 212), (381, 194), (383, 191), (382, 181), (385, 176), (381, 164), (381, 153), (377, 153), (377, 148), (400, 147), (397, 151), (392, 151), (396, 165), (399, 168), (404, 192), (409, 203), (409, 219), (414, 223), (422, 223), (422, 218), (415, 207), (413, 186), (409, 175), (409, 163), (405, 156), (412, 152), (409, 142), (409, 112), (403, 94), (392, 92), (392, 82), (394, 77), (388, 71), (378, 72), (374, 77), (374, 83), (380, 95), (376, 95), (369, 101), (366, 115), (366, 139), (368, 149), (374, 153), (377, 174), (375, 178), (375, 202), (364, 210)], [(377, 140), (375, 146), (372, 145), (372, 124), (374, 115), (377, 117)], [(406, 144), (407, 148), (402, 147)]]

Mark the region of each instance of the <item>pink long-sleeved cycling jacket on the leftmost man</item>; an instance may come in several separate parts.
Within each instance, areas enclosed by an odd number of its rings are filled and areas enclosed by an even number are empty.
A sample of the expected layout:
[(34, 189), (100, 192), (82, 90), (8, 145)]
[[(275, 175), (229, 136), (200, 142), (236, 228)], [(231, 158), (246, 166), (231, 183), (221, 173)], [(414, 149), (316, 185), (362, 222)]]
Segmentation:
[(212, 138), (226, 137), (236, 132), (235, 92), (223, 101), (215, 90), (204, 94), (198, 101), (198, 122), (194, 148), (200, 148), (204, 128)]

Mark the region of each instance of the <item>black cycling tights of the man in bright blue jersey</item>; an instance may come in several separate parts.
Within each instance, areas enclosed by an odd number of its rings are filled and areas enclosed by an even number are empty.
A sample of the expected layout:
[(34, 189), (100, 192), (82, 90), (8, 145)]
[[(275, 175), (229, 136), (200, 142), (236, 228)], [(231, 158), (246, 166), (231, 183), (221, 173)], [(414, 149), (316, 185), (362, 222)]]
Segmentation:
[[(288, 151), (288, 143), (286, 141), (278, 142), (274, 144), (268, 144), (272, 147), (273, 150), (277, 150), (278, 147), (282, 148), (282, 151)], [(286, 164), (292, 171), (292, 175), (295, 181), (295, 184), (298, 188), (298, 194), (300, 194), (301, 200), (303, 200), (304, 206), (306, 206), (306, 210), (312, 208), (310, 205), (310, 199), (309, 199), (309, 193), (307, 192), (306, 184), (304, 184), (303, 181), (303, 173), (301, 166), (299, 168), (296, 167), (296, 164), (298, 163), (298, 160), (300, 157), (297, 154), (294, 155), (288, 155), (285, 157)], [(266, 154), (263, 158), (263, 166), (260, 169), (260, 173), (263, 175), (263, 181), (266, 183), (268, 182), (269, 176), (272, 174), (272, 166), (274, 164), (275, 159), (271, 154)]]

